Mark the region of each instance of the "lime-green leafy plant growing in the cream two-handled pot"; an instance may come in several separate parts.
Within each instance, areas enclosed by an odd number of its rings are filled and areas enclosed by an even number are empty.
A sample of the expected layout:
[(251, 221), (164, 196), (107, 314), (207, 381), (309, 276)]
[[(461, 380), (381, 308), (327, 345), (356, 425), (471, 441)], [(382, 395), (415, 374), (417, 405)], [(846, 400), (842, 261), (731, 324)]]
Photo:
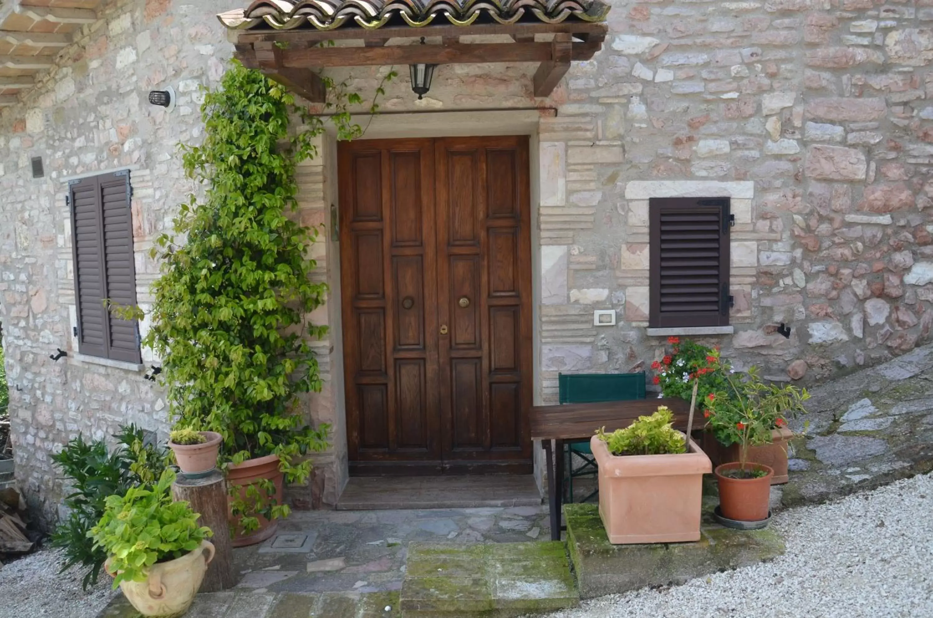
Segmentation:
[(173, 501), (174, 479), (168, 469), (154, 486), (107, 497), (104, 515), (89, 536), (94, 548), (110, 557), (114, 588), (124, 581), (145, 582), (149, 567), (184, 556), (212, 536), (211, 529), (198, 527), (201, 515), (193, 513), (188, 502)]

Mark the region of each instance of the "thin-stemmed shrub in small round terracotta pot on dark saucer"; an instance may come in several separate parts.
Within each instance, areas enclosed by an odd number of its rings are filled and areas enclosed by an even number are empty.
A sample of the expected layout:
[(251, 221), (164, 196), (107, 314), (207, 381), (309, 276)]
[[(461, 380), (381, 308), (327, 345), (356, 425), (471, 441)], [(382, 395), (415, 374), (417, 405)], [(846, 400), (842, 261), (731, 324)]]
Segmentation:
[[(754, 522), (764, 525), (769, 517), (771, 496), (771, 466), (749, 460), (751, 448), (769, 444), (772, 428), (786, 415), (803, 410), (803, 402), (810, 395), (806, 389), (786, 384), (777, 385), (763, 380), (756, 367), (745, 374), (731, 374), (726, 378), (729, 391), (707, 396), (703, 417), (721, 441), (739, 446), (739, 460), (717, 466), (715, 474), (719, 486), (719, 515), (723, 523)], [(739, 527), (739, 526), (736, 526)]]

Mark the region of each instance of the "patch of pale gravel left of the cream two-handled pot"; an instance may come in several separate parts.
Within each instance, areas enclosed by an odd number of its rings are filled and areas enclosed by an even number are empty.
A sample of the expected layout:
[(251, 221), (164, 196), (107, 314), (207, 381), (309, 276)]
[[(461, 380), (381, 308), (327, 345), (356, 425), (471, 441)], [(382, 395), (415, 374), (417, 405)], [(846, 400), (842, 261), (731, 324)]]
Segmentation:
[(60, 551), (43, 549), (0, 567), (0, 618), (94, 618), (115, 594), (101, 571), (97, 585), (81, 590), (82, 571), (62, 568)]

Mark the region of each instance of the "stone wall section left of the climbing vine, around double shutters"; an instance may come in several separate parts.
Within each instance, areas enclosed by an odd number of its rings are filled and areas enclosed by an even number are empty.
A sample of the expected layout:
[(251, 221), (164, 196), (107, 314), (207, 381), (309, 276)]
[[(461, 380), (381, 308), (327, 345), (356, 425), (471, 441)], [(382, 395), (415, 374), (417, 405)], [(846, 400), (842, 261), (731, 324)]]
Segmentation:
[[(62, 484), (49, 454), (83, 432), (100, 438), (134, 422), (167, 428), (163, 393), (139, 366), (77, 354), (68, 177), (129, 169), (137, 295), (143, 306), (158, 265), (151, 240), (171, 227), (193, 187), (176, 149), (202, 134), (202, 84), (214, 85), (232, 46), (213, 14), (233, 0), (111, 2), (85, 26), (57, 68), (0, 116), (0, 320), (4, 324), (16, 474), (30, 504), (56, 514)], [(146, 102), (172, 85), (170, 114)], [(45, 178), (30, 158), (41, 156)], [(52, 362), (56, 348), (68, 356)], [(146, 356), (144, 361), (151, 360)]]

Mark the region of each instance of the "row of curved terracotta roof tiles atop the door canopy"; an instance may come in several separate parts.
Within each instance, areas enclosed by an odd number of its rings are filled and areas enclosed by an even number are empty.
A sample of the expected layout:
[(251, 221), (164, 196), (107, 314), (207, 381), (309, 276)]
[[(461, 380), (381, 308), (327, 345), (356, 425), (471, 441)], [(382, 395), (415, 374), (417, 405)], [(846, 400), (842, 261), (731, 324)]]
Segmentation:
[(245, 9), (221, 13), (217, 18), (235, 30), (354, 26), (375, 30), (403, 22), (418, 28), (443, 19), (458, 26), (478, 20), (503, 24), (604, 21), (608, 12), (603, 0), (255, 0)]

